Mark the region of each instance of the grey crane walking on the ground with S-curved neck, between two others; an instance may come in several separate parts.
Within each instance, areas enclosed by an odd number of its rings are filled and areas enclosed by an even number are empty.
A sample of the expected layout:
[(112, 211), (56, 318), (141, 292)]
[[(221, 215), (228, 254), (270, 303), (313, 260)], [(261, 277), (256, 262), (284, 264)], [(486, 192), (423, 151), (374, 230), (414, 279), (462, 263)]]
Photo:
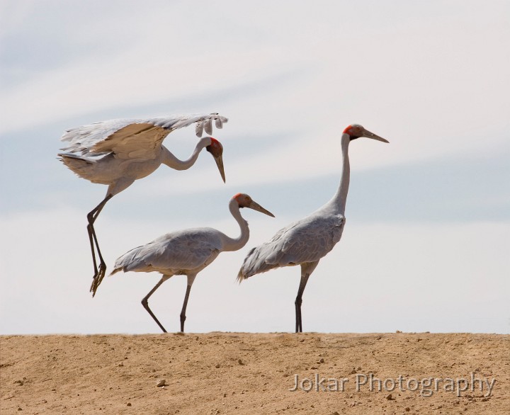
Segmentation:
[(237, 251), (246, 245), (249, 239), (248, 222), (242, 218), (241, 212), (239, 212), (242, 207), (249, 207), (274, 217), (271, 212), (254, 202), (249, 195), (237, 193), (229, 202), (229, 210), (241, 229), (239, 237), (227, 237), (222, 232), (210, 227), (171, 232), (120, 256), (115, 261), (110, 275), (118, 271), (135, 271), (137, 273), (156, 271), (163, 275), (159, 283), (143, 298), (142, 305), (164, 333), (166, 333), (164, 326), (149, 308), (149, 297), (173, 275), (186, 275), (188, 285), (180, 315), (181, 331), (183, 332), (188, 298), (196, 275), (212, 263), (221, 252)]

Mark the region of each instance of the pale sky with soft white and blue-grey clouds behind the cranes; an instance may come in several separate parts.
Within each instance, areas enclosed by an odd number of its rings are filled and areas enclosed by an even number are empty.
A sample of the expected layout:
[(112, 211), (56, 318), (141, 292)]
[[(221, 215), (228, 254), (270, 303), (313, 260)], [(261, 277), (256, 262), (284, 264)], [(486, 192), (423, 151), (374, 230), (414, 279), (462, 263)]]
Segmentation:
[[(106, 186), (56, 159), (64, 130), (109, 118), (219, 112), (227, 184), (203, 154), (106, 205), (108, 268), (182, 227), (244, 249), (198, 275), (187, 331), (292, 331), (298, 268), (238, 286), (254, 244), (325, 203), (351, 123), (390, 140), (350, 146), (344, 236), (312, 275), (306, 331), (510, 331), (510, 6), (507, 1), (0, 1), (0, 333), (147, 333), (159, 279), (129, 273), (88, 292), (86, 213)], [(193, 128), (166, 147), (185, 157)], [(179, 329), (185, 278), (151, 307)]]

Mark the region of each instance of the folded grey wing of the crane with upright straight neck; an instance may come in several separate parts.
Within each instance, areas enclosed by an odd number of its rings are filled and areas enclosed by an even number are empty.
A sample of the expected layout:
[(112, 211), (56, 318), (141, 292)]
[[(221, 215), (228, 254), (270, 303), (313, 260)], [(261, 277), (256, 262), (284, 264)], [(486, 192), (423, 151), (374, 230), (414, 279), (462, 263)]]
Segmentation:
[(252, 249), (239, 275), (248, 278), (272, 268), (319, 261), (340, 240), (344, 224), (343, 215), (311, 215), (294, 222)]

